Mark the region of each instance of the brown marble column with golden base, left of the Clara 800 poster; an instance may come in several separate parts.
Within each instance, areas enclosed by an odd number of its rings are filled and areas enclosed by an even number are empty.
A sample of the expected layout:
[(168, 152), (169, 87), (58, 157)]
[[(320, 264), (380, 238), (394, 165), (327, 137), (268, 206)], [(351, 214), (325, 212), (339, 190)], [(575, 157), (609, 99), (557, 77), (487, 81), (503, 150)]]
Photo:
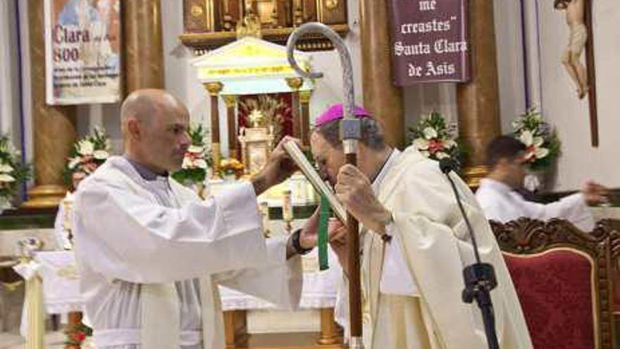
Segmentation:
[(75, 106), (45, 102), (44, 13), (40, 0), (28, 1), (30, 27), (30, 88), (35, 143), (35, 187), (28, 192), (28, 208), (56, 207), (66, 194), (63, 169), (75, 142)]

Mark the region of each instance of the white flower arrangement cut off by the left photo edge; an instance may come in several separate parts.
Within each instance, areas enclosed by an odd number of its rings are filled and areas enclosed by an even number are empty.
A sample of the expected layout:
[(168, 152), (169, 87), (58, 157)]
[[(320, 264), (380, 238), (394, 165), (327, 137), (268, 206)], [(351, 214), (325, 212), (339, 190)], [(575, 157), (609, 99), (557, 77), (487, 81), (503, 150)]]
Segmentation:
[(30, 176), (30, 166), (23, 164), (20, 152), (6, 135), (0, 136), (0, 212), (11, 207), (13, 196)]

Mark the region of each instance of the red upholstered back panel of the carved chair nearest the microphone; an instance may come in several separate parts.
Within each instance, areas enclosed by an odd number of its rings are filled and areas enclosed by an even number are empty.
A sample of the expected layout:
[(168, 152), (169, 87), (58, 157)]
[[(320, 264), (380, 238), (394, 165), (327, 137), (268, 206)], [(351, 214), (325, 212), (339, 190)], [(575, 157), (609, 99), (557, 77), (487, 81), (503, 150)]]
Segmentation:
[(595, 348), (594, 262), (556, 248), (504, 254), (535, 349)]

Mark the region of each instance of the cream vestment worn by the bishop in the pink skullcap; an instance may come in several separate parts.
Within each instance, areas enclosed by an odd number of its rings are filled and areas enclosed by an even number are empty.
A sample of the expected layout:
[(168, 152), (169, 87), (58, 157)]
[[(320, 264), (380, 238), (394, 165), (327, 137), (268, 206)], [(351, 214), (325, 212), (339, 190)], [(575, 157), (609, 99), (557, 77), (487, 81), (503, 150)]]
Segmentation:
[[(451, 176), (476, 233), (481, 259), (497, 274), (499, 286), (491, 295), (500, 348), (530, 349), (519, 299), (488, 221), (467, 185)], [(462, 269), (475, 259), (452, 188), (438, 164), (409, 147), (392, 154), (373, 186), (378, 200), (392, 212), (394, 222), (386, 231), (394, 245), (386, 246), (376, 233), (363, 229), (366, 348), (488, 348), (478, 306), (461, 300)]]

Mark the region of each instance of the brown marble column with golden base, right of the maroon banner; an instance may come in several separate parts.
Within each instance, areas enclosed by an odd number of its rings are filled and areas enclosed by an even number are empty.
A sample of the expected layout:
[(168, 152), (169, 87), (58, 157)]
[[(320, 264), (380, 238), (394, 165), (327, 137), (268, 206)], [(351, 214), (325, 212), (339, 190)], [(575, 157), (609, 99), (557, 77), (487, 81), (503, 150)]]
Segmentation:
[(493, 1), (469, 1), (467, 4), (471, 81), (458, 85), (457, 104), (459, 135), (471, 148), (464, 175), (467, 183), (476, 188), (488, 173), (486, 147), (502, 130)]

